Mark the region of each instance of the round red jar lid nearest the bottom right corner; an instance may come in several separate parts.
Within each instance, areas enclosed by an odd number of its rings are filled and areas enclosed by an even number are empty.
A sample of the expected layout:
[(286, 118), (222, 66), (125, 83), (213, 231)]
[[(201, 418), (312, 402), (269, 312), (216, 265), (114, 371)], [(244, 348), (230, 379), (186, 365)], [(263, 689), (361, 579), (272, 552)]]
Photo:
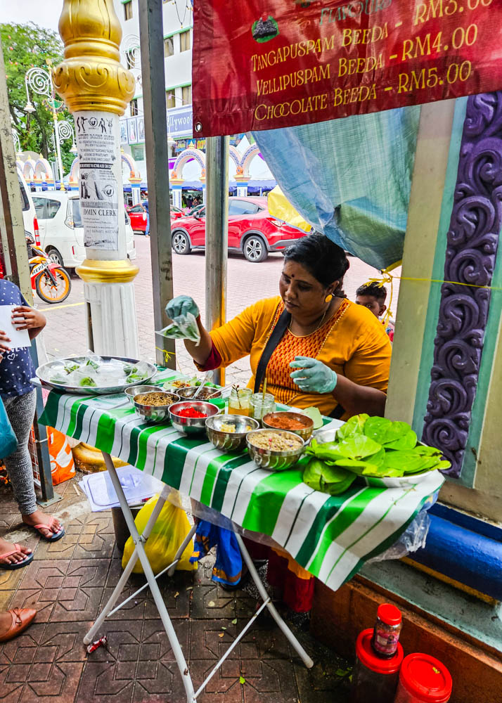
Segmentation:
[(408, 654), (399, 673), (408, 693), (426, 703), (446, 703), (451, 696), (451, 674), (439, 659), (429, 654)]

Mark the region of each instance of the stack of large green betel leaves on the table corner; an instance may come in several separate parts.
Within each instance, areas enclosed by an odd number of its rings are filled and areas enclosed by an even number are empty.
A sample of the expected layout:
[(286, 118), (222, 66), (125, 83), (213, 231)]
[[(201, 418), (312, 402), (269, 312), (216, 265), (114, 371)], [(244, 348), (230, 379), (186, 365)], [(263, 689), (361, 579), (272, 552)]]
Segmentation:
[(312, 439), (306, 454), (311, 459), (304, 470), (304, 482), (332, 496), (347, 491), (358, 476), (402, 477), (451, 465), (439, 449), (417, 444), (408, 423), (369, 415), (350, 418), (337, 430), (335, 441), (319, 444)]

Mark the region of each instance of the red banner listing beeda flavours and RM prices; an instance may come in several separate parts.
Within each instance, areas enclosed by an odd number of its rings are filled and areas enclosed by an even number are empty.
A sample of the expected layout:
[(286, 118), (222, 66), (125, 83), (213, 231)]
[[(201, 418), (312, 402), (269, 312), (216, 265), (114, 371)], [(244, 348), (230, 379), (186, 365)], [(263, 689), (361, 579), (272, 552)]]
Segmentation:
[(193, 134), (502, 89), (502, 0), (195, 0)]

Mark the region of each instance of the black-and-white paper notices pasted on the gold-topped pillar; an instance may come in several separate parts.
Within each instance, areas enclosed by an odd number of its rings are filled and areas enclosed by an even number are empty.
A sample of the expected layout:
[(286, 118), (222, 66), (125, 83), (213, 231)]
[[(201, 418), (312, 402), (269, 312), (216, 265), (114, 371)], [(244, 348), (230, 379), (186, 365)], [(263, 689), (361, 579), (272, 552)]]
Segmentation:
[(110, 112), (77, 112), (75, 126), (84, 243), (93, 249), (117, 250), (119, 198), (122, 205), (118, 117)]

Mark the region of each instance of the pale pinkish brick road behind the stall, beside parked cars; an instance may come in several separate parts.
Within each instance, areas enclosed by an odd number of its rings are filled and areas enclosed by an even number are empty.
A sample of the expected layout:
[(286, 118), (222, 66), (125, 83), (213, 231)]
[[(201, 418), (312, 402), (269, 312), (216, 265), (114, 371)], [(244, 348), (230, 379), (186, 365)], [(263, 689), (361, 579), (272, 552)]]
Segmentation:
[[(136, 263), (139, 274), (134, 282), (136, 290), (136, 311), (138, 318), (139, 348), (142, 359), (155, 359), (155, 335), (153, 325), (153, 292), (150, 267), (150, 240), (136, 235)], [(261, 264), (250, 264), (238, 254), (230, 254), (228, 262), (228, 292), (226, 314), (232, 318), (247, 305), (256, 300), (278, 293), (278, 280), (283, 257), (271, 254)], [(354, 299), (356, 288), (368, 278), (378, 275), (378, 271), (363, 264), (359, 259), (350, 258), (350, 269), (345, 277), (345, 292)], [(198, 302), (204, 318), (205, 297), (205, 256), (195, 252), (188, 256), (173, 254), (174, 294), (188, 293)], [(397, 302), (399, 285), (394, 291)], [(84, 320), (83, 283), (79, 278), (72, 278), (72, 292), (60, 305), (41, 304), (39, 298), (35, 304), (47, 317), (44, 332), (46, 352), (55, 357), (69, 354), (82, 354), (86, 351), (86, 325)], [(395, 303), (392, 304), (395, 312)], [(51, 358), (49, 356), (49, 358)], [(186, 354), (184, 345), (176, 342), (177, 368), (193, 373), (193, 363)], [(240, 359), (226, 373), (227, 382), (247, 383), (249, 379), (249, 359)]]

